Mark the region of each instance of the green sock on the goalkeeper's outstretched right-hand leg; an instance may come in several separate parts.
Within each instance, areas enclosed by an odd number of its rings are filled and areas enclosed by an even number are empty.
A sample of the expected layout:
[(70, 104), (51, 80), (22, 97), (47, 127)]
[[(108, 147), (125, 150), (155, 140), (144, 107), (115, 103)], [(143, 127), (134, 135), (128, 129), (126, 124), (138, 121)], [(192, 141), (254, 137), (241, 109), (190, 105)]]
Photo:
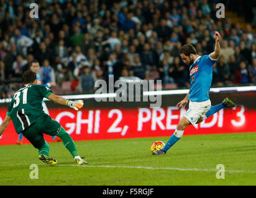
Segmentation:
[(73, 139), (70, 137), (70, 135), (65, 131), (65, 129), (62, 127), (60, 129), (60, 132), (57, 134), (58, 137), (62, 139), (62, 142), (66, 149), (71, 153), (73, 157), (78, 156), (78, 151), (76, 149), (76, 145), (73, 141)]

